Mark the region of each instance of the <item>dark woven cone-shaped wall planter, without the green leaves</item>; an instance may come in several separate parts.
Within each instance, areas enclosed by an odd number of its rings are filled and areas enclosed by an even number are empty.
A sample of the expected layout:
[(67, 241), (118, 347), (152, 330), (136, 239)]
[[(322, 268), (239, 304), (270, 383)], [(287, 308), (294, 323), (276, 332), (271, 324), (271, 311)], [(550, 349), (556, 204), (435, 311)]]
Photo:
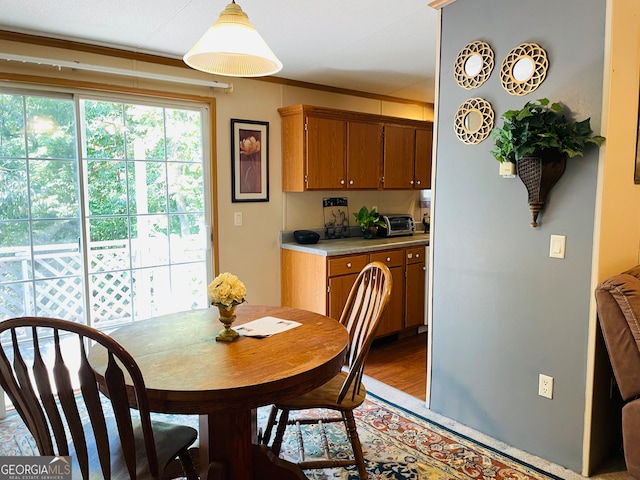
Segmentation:
[(556, 152), (545, 156), (522, 157), (518, 162), (518, 176), (529, 195), (533, 228), (538, 226), (538, 215), (547, 201), (547, 195), (562, 177), (566, 164), (566, 156)]

